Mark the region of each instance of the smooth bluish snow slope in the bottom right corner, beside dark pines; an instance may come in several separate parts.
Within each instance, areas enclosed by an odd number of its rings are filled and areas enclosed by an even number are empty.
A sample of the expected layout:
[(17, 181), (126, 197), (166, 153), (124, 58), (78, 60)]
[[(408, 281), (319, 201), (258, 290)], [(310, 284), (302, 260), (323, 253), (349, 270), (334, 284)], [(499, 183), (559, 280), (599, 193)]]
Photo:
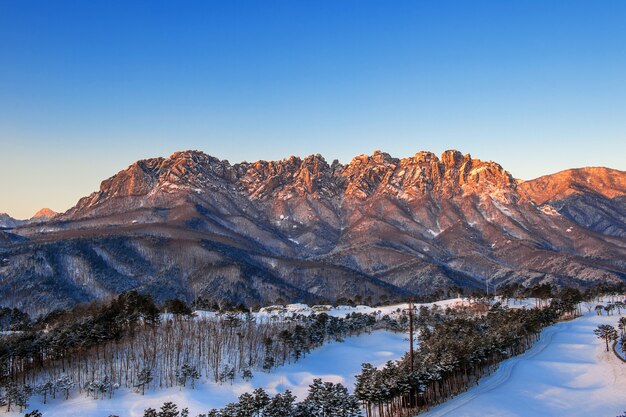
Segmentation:
[(594, 312), (545, 329), (525, 354), (420, 417), (615, 417), (626, 410), (626, 363), (593, 330), (619, 316)]

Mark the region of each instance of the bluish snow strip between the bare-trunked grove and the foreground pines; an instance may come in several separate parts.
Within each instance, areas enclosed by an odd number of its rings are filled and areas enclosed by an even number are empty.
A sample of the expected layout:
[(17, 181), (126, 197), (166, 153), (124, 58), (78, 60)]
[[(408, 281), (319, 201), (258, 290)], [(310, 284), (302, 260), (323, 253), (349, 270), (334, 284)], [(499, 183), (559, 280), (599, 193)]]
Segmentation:
[[(282, 366), (267, 374), (258, 372), (250, 381), (235, 381), (233, 385), (217, 385), (203, 382), (195, 390), (151, 390), (145, 396), (128, 390), (115, 392), (113, 400), (93, 400), (75, 393), (68, 401), (53, 400), (47, 405), (33, 397), (29, 409), (39, 409), (44, 417), (120, 417), (143, 415), (148, 407), (156, 408), (165, 401), (179, 407), (189, 407), (190, 415), (206, 413), (210, 408), (222, 407), (245, 392), (263, 388), (271, 394), (291, 390), (302, 399), (314, 378), (341, 382), (350, 390), (354, 388), (355, 376), (361, 372), (361, 364), (369, 362), (376, 366), (388, 360), (399, 359), (408, 350), (408, 339), (404, 334), (375, 331), (371, 334), (347, 338), (344, 342), (333, 342), (322, 346), (300, 359), (297, 363)], [(23, 416), (10, 413), (7, 416)]]

